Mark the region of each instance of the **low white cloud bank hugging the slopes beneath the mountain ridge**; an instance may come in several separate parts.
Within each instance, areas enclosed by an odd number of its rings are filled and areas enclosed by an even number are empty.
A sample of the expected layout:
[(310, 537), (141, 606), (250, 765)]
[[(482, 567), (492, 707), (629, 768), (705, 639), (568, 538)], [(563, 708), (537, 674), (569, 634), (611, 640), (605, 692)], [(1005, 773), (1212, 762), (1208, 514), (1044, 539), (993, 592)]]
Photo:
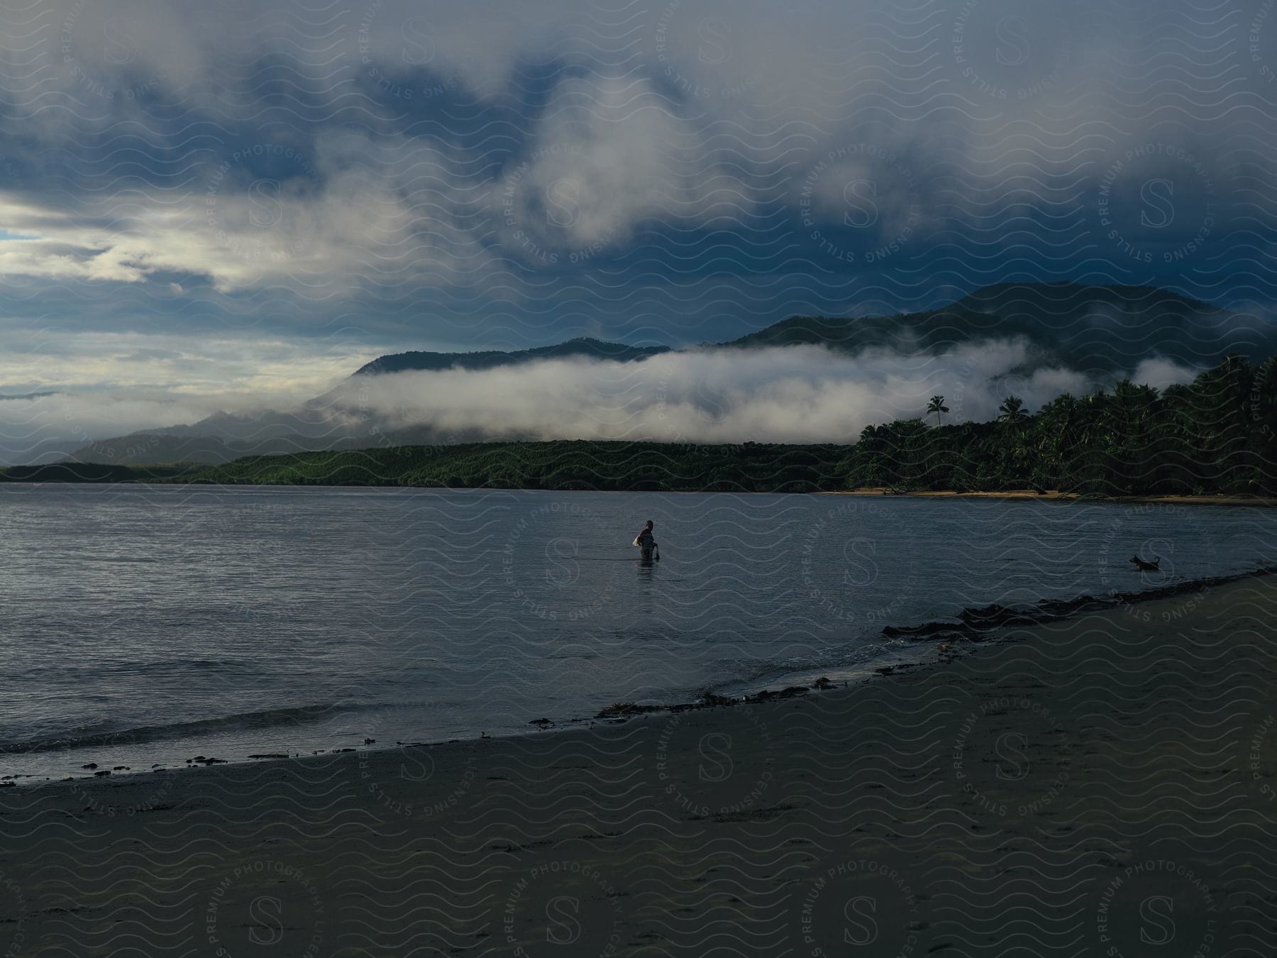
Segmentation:
[[(1069, 369), (1033, 369), (1031, 359), (1023, 340), (941, 355), (692, 350), (631, 364), (555, 360), (368, 377), (347, 383), (338, 402), (383, 430), (429, 424), (510, 438), (852, 442), (870, 423), (922, 416), (933, 395), (946, 397), (948, 422), (986, 420), (1009, 395), (1037, 409), (1061, 392), (1110, 384)], [(1154, 359), (1135, 378), (1163, 388), (1193, 376)]]

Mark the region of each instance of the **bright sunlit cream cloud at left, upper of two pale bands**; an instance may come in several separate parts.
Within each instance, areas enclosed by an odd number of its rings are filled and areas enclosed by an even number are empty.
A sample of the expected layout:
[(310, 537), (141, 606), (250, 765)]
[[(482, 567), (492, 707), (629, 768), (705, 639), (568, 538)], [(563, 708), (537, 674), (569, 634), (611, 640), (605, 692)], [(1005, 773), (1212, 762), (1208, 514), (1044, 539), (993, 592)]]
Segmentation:
[[(322, 277), (341, 291), (342, 282), (349, 290), (379, 268), (402, 270), (406, 253), (414, 271), (452, 268), (466, 238), (447, 197), (420, 203), (402, 189), (410, 171), (438, 162), (437, 153), (395, 146), (397, 165), (375, 170), (368, 137), (326, 133), (313, 161), (299, 160), (283, 179), (258, 175), (252, 157), (232, 153), (207, 171), (203, 188), (178, 197), (130, 189), (54, 208), (0, 193), (0, 230), (20, 235), (0, 240), (0, 277), (139, 284), (183, 273), (222, 293)], [(420, 234), (447, 243), (414, 243)], [(189, 286), (165, 285), (172, 293)]]

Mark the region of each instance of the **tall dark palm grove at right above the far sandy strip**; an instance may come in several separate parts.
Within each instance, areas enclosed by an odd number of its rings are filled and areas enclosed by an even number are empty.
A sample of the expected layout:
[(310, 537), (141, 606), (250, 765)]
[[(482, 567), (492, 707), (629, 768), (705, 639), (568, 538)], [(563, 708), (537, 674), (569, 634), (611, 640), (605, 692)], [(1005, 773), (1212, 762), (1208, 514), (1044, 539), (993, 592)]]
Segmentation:
[[(928, 413), (944, 405), (932, 399)], [(937, 414), (939, 419), (939, 414)], [(1060, 396), (1034, 415), (1016, 397), (994, 423), (871, 425), (847, 483), (1125, 494), (1277, 494), (1277, 359), (1227, 356), (1163, 392), (1120, 382)]]

